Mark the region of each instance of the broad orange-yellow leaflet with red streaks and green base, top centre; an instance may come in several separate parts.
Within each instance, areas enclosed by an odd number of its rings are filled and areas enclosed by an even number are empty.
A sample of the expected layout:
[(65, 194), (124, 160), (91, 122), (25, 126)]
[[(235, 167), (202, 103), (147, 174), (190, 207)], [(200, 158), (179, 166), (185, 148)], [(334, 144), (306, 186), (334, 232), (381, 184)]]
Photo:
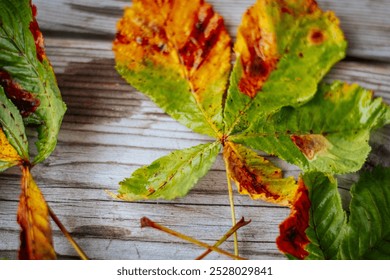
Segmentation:
[(180, 123), (221, 137), (231, 39), (211, 5), (183, 3), (133, 1), (118, 22), (116, 69)]

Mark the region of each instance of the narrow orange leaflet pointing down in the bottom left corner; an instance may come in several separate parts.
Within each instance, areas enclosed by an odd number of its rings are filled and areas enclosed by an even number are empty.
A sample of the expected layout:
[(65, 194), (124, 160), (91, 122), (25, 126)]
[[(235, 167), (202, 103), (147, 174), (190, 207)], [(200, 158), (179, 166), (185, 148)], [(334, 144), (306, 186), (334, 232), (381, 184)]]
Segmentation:
[(19, 259), (56, 258), (48, 206), (28, 167), (23, 168), (18, 223), (22, 228)]

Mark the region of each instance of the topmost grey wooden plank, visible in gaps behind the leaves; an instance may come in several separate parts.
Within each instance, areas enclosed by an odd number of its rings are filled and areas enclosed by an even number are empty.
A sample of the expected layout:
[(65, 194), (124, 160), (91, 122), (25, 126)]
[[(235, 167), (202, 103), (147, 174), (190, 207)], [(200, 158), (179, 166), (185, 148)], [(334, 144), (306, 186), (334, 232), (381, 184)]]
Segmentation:
[[(234, 36), (242, 14), (255, 0), (209, 2), (224, 16), (230, 34)], [(113, 38), (122, 9), (131, 5), (129, 0), (36, 0), (34, 3), (38, 6), (38, 20), (44, 31), (54, 31), (58, 36), (69, 32), (71, 36), (97, 35), (107, 39)], [(334, 10), (340, 18), (349, 41), (349, 56), (390, 60), (388, 0), (318, 0), (318, 3), (324, 10)]]

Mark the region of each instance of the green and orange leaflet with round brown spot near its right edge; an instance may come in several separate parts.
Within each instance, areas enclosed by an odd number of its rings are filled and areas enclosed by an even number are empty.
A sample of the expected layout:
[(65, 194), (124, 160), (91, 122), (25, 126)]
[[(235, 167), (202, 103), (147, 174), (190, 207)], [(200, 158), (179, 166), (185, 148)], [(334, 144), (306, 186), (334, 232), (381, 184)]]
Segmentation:
[(240, 132), (283, 106), (310, 100), (345, 49), (338, 19), (314, 1), (257, 1), (237, 34), (225, 134)]

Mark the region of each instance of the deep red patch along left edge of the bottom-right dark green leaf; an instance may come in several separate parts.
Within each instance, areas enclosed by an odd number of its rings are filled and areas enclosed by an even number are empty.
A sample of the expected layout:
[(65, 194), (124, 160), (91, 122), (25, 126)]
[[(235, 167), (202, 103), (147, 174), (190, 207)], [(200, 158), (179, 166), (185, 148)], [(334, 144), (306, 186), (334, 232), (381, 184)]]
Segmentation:
[(305, 246), (310, 241), (305, 231), (309, 227), (310, 205), (309, 192), (300, 179), (290, 216), (279, 225), (280, 235), (276, 239), (280, 251), (298, 259), (304, 259), (309, 255)]

